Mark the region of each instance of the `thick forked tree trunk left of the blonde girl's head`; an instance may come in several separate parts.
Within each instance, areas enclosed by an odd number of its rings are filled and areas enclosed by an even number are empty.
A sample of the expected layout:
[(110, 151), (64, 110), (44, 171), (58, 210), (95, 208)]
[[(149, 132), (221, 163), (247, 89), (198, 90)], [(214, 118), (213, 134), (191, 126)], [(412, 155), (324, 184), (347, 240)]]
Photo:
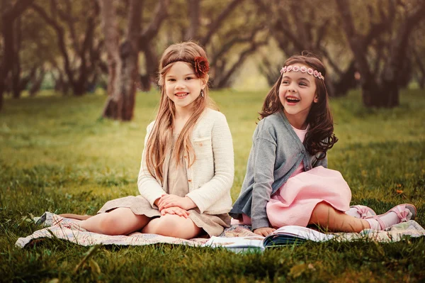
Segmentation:
[(120, 43), (116, 8), (112, 0), (99, 0), (106, 52), (108, 53), (108, 99), (103, 117), (130, 121), (135, 106), (136, 83), (139, 80), (139, 52), (149, 50), (164, 18), (168, 0), (160, 0), (149, 25), (142, 30), (144, 1), (130, 0), (125, 40)]

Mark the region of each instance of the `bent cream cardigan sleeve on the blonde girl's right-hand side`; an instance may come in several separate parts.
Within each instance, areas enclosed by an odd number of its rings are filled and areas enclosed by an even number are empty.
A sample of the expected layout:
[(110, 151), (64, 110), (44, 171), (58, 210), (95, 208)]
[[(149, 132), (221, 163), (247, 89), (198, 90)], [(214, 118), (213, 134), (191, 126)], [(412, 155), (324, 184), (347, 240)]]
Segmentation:
[(199, 189), (186, 194), (198, 206), (200, 213), (215, 204), (225, 194), (229, 194), (234, 178), (234, 155), (232, 134), (226, 117), (220, 115), (214, 121), (211, 133), (214, 156), (214, 177)]

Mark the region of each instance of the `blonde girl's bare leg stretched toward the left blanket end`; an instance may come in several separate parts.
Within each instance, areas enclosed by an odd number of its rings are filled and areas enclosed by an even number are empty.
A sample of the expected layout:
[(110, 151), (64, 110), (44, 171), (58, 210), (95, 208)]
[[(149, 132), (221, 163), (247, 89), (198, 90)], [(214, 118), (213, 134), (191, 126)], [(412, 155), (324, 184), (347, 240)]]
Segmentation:
[(142, 229), (149, 221), (150, 218), (145, 215), (136, 215), (131, 209), (120, 207), (83, 220), (79, 222), (79, 226), (94, 233), (128, 235)]

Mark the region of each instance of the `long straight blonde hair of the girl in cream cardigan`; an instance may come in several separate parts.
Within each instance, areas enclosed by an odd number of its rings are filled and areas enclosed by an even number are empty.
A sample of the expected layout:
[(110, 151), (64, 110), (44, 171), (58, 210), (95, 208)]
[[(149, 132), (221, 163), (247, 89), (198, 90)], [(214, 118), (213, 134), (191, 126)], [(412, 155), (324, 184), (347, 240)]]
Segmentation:
[[(169, 145), (172, 143), (173, 123), (176, 114), (174, 102), (166, 95), (164, 77), (166, 72), (170, 70), (174, 63), (179, 61), (188, 63), (188, 65), (195, 70), (194, 61), (196, 57), (203, 57), (207, 59), (205, 50), (203, 50), (203, 48), (199, 45), (193, 42), (176, 43), (170, 45), (169, 48), (166, 48), (159, 62), (158, 84), (161, 89), (161, 99), (159, 101), (157, 118), (155, 119), (154, 126), (147, 140), (145, 152), (149, 174), (157, 177), (157, 179), (161, 182), (164, 182), (163, 166), (166, 152), (169, 149)], [(202, 74), (198, 77), (208, 81), (208, 74)], [(198, 118), (205, 108), (216, 108), (215, 104), (210, 99), (207, 82), (205, 82), (205, 84), (203, 96), (198, 96), (198, 98), (193, 101), (193, 109), (195, 110), (181, 130), (179, 138), (177, 138), (174, 145), (173, 155), (171, 158), (175, 158), (177, 165), (180, 164), (183, 152), (187, 152), (188, 154), (188, 166), (190, 167), (193, 165), (193, 162), (196, 160), (196, 155), (191, 143), (193, 127), (196, 125)]]

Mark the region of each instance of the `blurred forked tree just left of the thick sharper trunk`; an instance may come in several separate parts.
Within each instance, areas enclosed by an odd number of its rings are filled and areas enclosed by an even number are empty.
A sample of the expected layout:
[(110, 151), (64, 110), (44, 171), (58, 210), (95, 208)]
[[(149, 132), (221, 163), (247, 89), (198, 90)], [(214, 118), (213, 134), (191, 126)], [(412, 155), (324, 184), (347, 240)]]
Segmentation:
[[(79, 4), (70, 0), (51, 0), (49, 13), (38, 4), (31, 5), (57, 34), (66, 82), (76, 96), (85, 94), (91, 78), (96, 76), (103, 44), (96, 40), (95, 34), (99, 13), (97, 2), (89, 1), (89, 7), (86, 1)], [(84, 36), (79, 36), (80, 33)]]

